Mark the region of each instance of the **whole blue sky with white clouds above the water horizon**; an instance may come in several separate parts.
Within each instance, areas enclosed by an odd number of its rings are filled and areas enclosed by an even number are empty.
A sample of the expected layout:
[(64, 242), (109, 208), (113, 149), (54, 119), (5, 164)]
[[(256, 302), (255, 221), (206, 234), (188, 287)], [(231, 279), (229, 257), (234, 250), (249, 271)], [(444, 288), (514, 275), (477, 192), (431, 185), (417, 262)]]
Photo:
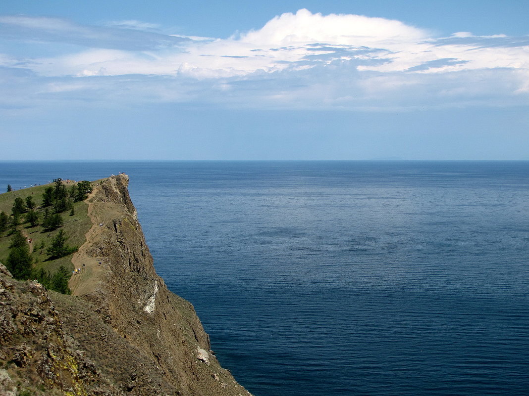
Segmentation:
[(4, 160), (529, 160), (529, 2), (0, 2)]

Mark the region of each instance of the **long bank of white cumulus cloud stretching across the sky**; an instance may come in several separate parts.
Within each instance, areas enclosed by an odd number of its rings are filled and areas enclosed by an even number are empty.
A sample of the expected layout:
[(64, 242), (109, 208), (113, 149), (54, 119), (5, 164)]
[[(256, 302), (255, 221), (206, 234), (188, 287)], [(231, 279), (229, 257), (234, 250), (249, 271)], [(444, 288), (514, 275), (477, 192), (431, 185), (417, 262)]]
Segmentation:
[[(526, 105), (529, 99), (527, 36), (433, 37), (400, 21), (307, 10), (229, 39), (168, 35), (158, 28), (141, 21), (85, 26), (4, 16), (4, 39), (84, 49), (46, 58), (0, 54), (0, 66), (53, 79), (53, 90), (43, 84), (41, 92), (71, 95), (82, 87), (101, 100), (120, 92), (130, 100), (134, 92), (134, 100), (222, 106), (395, 109)], [(77, 86), (72, 79), (86, 80)]]

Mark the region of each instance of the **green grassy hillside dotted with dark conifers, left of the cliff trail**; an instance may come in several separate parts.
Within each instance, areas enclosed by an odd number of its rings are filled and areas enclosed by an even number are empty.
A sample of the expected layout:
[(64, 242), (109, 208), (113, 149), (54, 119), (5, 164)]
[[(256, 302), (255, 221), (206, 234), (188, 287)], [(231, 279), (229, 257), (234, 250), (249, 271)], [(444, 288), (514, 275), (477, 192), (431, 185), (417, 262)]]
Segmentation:
[[(71, 255), (85, 242), (92, 225), (84, 202), (91, 190), (89, 182), (59, 178), (54, 183), (0, 194), (0, 262), (13, 275), (18, 273), (13, 268), (15, 259), (20, 266), (30, 266), (15, 278), (37, 279), (48, 289), (69, 293), (68, 280), (74, 271)], [(26, 253), (13, 254), (14, 240), (21, 239), (20, 235)], [(21, 263), (24, 254), (29, 254), (29, 260)]]

